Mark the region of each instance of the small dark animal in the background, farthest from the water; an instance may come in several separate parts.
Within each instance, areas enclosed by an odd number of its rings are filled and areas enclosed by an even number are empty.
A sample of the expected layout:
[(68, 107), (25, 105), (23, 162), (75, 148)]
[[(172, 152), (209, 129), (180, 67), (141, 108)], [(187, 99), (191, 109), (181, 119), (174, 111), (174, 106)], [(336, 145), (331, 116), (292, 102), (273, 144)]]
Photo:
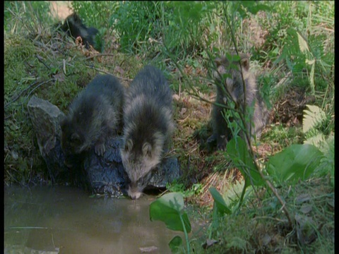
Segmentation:
[(74, 40), (80, 36), (86, 49), (90, 49), (90, 45), (97, 49), (95, 36), (99, 31), (96, 28), (86, 28), (77, 13), (72, 13), (66, 18), (64, 24), (61, 25), (61, 30), (73, 37)]

